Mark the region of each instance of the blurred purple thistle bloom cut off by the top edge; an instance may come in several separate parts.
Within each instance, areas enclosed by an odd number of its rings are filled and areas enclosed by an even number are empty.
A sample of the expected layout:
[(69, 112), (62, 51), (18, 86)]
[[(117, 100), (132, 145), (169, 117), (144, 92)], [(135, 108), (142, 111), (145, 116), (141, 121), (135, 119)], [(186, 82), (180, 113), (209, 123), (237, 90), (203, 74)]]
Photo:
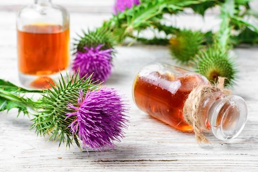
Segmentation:
[(123, 12), (126, 8), (132, 8), (134, 5), (139, 5), (140, 0), (116, 0), (114, 6), (115, 15), (118, 12)]

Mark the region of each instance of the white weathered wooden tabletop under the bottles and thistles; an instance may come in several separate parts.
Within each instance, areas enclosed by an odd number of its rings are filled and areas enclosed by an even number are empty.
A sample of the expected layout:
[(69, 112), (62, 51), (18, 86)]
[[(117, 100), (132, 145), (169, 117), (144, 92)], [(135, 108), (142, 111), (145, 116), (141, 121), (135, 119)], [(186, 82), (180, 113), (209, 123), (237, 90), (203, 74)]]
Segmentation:
[[(15, 10), (32, 0), (0, 2), (0, 78), (19, 84), (17, 75)], [(71, 11), (71, 35), (80, 29), (100, 26), (111, 17), (113, 0), (56, 0)], [(97, 5), (97, 4), (101, 4)], [(79, 8), (76, 7), (80, 6)], [(94, 8), (93, 8), (94, 7)], [(76, 11), (78, 9), (78, 11)], [(85, 11), (84, 11), (85, 10)], [(88, 10), (88, 11), (87, 11)], [(102, 12), (102, 13), (99, 13)], [(214, 19), (214, 20), (213, 20)], [(205, 20), (183, 15), (179, 26), (204, 29), (219, 23), (214, 16)], [(209, 23), (204, 25), (203, 22)], [(0, 172), (45, 171), (193, 171), (258, 172), (258, 47), (237, 48), (239, 80), (234, 93), (248, 104), (246, 127), (230, 142), (219, 141), (211, 134), (211, 143), (196, 143), (193, 134), (182, 133), (153, 119), (133, 103), (131, 89), (137, 71), (146, 63), (170, 58), (166, 47), (116, 47), (112, 77), (106, 83), (127, 95), (130, 100), (130, 124), (125, 139), (113, 150), (89, 152), (37, 137), (29, 130), (31, 121), (17, 112), (0, 113)]]

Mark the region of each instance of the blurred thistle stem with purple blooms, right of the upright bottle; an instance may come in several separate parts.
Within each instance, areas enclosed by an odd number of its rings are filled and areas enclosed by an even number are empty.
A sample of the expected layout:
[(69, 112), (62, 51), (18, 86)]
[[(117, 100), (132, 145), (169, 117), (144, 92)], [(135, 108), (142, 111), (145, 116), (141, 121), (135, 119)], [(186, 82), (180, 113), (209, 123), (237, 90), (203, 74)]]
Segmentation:
[(132, 36), (133, 31), (158, 23), (166, 13), (175, 14), (203, 1), (207, 0), (117, 0), (113, 18), (75, 40), (73, 70), (80, 69), (80, 77), (93, 73), (94, 81), (106, 81), (111, 75), (115, 44)]

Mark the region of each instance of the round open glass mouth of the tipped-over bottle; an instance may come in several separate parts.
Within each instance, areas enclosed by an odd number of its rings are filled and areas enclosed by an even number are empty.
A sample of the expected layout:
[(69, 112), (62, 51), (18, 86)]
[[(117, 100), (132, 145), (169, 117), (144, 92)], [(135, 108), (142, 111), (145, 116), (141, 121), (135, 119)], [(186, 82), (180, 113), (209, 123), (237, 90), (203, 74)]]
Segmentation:
[(209, 122), (214, 136), (220, 140), (236, 138), (247, 120), (245, 100), (237, 95), (222, 97), (212, 105)]

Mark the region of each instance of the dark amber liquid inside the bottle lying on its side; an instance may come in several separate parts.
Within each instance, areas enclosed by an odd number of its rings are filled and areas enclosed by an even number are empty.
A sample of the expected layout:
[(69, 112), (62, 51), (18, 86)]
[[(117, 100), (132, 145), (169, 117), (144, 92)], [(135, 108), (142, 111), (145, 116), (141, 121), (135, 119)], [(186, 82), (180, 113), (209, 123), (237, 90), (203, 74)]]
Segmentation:
[(185, 132), (192, 132), (183, 119), (184, 102), (195, 86), (204, 84), (200, 75), (160, 75), (158, 72), (147, 77), (138, 76), (134, 83), (134, 100), (147, 114)]

